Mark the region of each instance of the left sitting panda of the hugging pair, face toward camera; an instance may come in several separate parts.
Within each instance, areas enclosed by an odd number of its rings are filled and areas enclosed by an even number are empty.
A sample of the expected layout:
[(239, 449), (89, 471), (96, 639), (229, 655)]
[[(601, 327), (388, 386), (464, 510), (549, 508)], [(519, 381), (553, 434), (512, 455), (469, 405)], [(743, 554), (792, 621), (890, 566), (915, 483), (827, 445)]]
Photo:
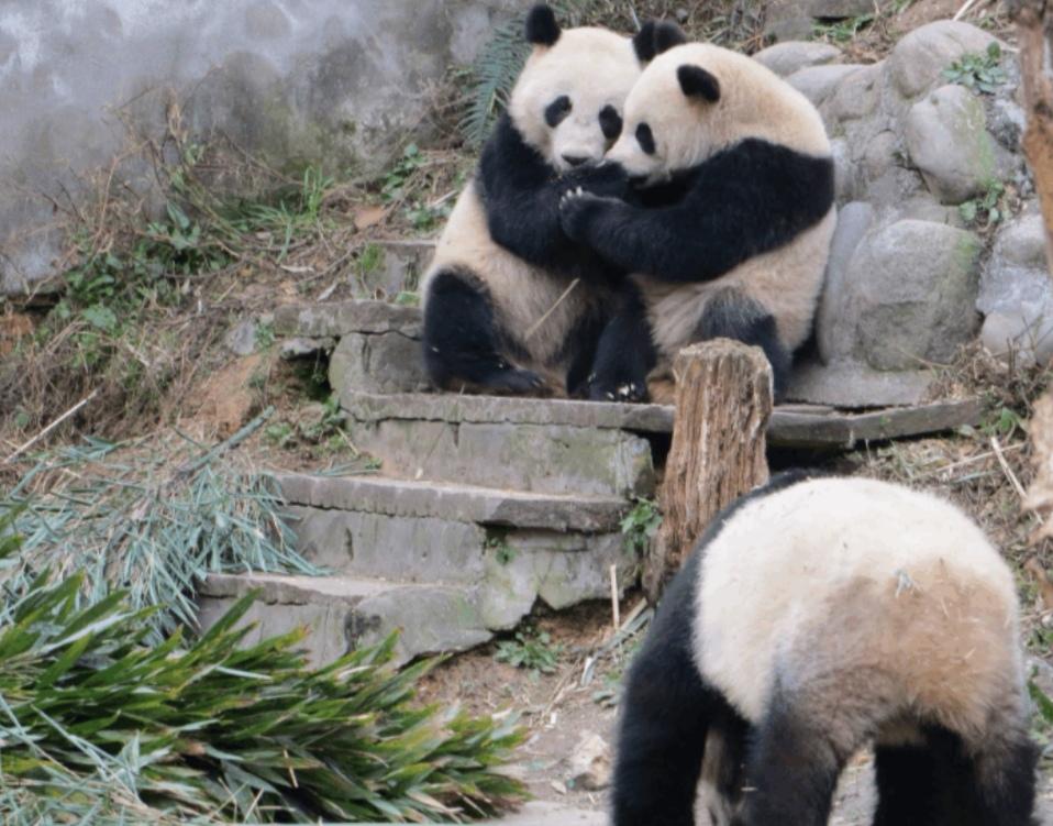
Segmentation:
[(559, 196), (568, 183), (624, 190), (620, 170), (597, 165), (640, 63), (629, 37), (562, 31), (546, 5), (525, 34), (533, 52), (422, 285), (424, 365), (445, 389), (580, 386), (611, 306), (612, 267), (563, 233)]

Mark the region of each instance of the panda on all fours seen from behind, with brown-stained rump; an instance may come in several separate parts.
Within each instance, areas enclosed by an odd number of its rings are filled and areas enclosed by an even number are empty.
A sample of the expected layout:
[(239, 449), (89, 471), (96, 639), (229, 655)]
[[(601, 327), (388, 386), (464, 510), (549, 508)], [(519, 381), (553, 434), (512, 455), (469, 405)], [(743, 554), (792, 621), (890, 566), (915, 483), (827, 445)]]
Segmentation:
[[(875, 826), (1037, 826), (1013, 579), (940, 498), (773, 478), (722, 513), (630, 669), (614, 826), (821, 826), (873, 742)], [(710, 767), (711, 768), (711, 767)], [(730, 815), (729, 815), (730, 813)]]

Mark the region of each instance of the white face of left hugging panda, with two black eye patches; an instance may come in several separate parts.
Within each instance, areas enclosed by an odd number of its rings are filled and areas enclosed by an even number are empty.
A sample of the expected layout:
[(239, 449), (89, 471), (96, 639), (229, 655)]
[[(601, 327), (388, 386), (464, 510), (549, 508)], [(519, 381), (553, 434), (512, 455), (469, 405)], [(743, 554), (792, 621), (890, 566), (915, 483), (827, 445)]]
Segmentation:
[(526, 60), (509, 102), (523, 139), (566, 172), (597, 164), (621, 133), (629, 90), (640, 77), (632, 43), (602, 29), (569, 29)]

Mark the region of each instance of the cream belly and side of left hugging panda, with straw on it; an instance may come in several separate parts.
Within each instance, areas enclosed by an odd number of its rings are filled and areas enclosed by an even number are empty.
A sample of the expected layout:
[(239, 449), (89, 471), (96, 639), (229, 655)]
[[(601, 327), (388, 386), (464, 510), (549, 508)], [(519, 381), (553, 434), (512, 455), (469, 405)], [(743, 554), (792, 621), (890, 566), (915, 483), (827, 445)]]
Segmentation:
[(475, 183), (461, 194), (439, 239), (422, 288), (425, 302), (431, 279), (450, 267), (467, 269), (485, 285), (502, 333), (530, 354), (533, 364), (524, 366), (559, 366), (568, 339), (603, 299), (595, 285), (579, 283), (568, 293), (569, 277), (532, 266), (497, 244)]

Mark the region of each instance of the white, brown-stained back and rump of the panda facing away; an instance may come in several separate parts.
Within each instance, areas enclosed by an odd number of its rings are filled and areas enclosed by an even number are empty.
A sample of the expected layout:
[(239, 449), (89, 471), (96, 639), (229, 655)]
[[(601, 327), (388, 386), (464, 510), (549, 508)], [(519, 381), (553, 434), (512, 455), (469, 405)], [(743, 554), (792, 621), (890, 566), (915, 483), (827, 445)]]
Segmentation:
[(935, 497), (800, 483), (743, 507), (703, 552), (696, 661), (752, 722), (777, 691), (816, 715), (879, 729), (907, 714), (968, 739), (1016, 697), (1012, 577)]

